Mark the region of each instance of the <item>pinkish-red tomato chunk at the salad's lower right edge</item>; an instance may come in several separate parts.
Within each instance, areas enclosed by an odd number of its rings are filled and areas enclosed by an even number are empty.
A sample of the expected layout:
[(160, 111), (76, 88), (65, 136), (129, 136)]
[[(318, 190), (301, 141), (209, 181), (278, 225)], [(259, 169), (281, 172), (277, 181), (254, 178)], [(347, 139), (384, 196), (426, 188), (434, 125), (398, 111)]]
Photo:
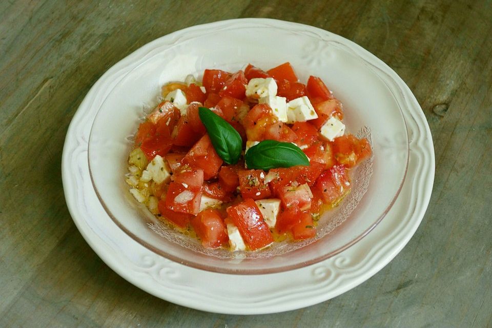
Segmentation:
[(351, 188), (347, 169), (343, 165), (335, 165), (321, 173), (314, 186), (325, 202), (336, 204)]

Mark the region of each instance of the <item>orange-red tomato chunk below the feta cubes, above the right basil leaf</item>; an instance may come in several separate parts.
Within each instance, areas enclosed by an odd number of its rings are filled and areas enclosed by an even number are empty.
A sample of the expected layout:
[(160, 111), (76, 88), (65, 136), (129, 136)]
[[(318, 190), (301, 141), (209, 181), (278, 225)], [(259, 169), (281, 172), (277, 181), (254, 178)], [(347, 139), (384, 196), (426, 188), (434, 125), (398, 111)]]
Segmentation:
[(248, 140), (261, 141), (269, 126), (278, 122), (267, 104), (258, 104), (244, 117), (242, 123)]

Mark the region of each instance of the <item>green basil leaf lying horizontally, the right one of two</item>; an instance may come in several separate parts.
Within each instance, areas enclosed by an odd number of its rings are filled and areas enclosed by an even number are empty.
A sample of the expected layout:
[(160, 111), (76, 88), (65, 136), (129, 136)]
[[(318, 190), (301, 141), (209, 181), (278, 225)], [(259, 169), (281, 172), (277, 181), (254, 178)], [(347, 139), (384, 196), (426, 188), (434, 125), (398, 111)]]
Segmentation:
[(248, 149), (244, 155), (248, 169), (270, 170), (290, 168), (291, 166), (309, 166), (309, 159), (302, 150), (290, 142), (263, 140)]

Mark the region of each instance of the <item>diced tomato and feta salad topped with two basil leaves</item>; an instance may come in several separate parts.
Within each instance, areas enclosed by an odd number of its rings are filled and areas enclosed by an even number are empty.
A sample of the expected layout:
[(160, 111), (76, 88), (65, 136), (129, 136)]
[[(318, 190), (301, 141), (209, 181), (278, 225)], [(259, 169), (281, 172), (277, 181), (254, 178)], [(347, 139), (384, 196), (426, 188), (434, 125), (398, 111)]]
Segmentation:
[(371, 155), (345, 133), (342, 104), (290, 63), (206, 69), (201, 83), (162, 87), (138, 127), (126, 181), (161, 220), (206, 248), (254, 251), (316, 235), (320, 213), (351, 190), (349, 170)]

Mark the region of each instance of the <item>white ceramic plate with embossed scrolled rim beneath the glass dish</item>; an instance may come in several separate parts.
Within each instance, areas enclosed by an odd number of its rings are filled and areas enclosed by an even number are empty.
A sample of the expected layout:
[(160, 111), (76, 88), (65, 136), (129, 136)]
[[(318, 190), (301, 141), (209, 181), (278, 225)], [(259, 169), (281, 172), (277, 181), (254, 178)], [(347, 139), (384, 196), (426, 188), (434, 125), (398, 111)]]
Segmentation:
[[(322, 60), (330, 47), (344, 47), (367, 65), (402, 108), (410, 140), (408, 171), (400, 196), (370, 234), (342, 253), (298, 270), (269, 275), (227, 275), (201, 271), (163, 258), (131, 239), (107, 215), (92, 187), (88, 140), (97, 109), (136, 60), (173, 48), (189, 37), (258, 28), (314, 36)], [(234, 42), (228, 40), (228, 42)], [(203, 48), (206, 49), (206, 48)], [(278, 59), (281, 61), (282, 58)], [(214, 65), (211, 65), (214, 66)], [(362, 283), (391, 261), (413, 236), (425, 213), (434, 181), (432, 137), (420, 106), (401, 78), (371, 53), (338, 35), (271, 19), (235, 19), (200, 25), (164, 36), (121, 60), (101, 77), (75, 114), (62, 163), (65, 196), (74, 222), (93, 250), (119, 275), (162, 299), (210, 312), (260, 314), (288, 311), (333, 298)]]

